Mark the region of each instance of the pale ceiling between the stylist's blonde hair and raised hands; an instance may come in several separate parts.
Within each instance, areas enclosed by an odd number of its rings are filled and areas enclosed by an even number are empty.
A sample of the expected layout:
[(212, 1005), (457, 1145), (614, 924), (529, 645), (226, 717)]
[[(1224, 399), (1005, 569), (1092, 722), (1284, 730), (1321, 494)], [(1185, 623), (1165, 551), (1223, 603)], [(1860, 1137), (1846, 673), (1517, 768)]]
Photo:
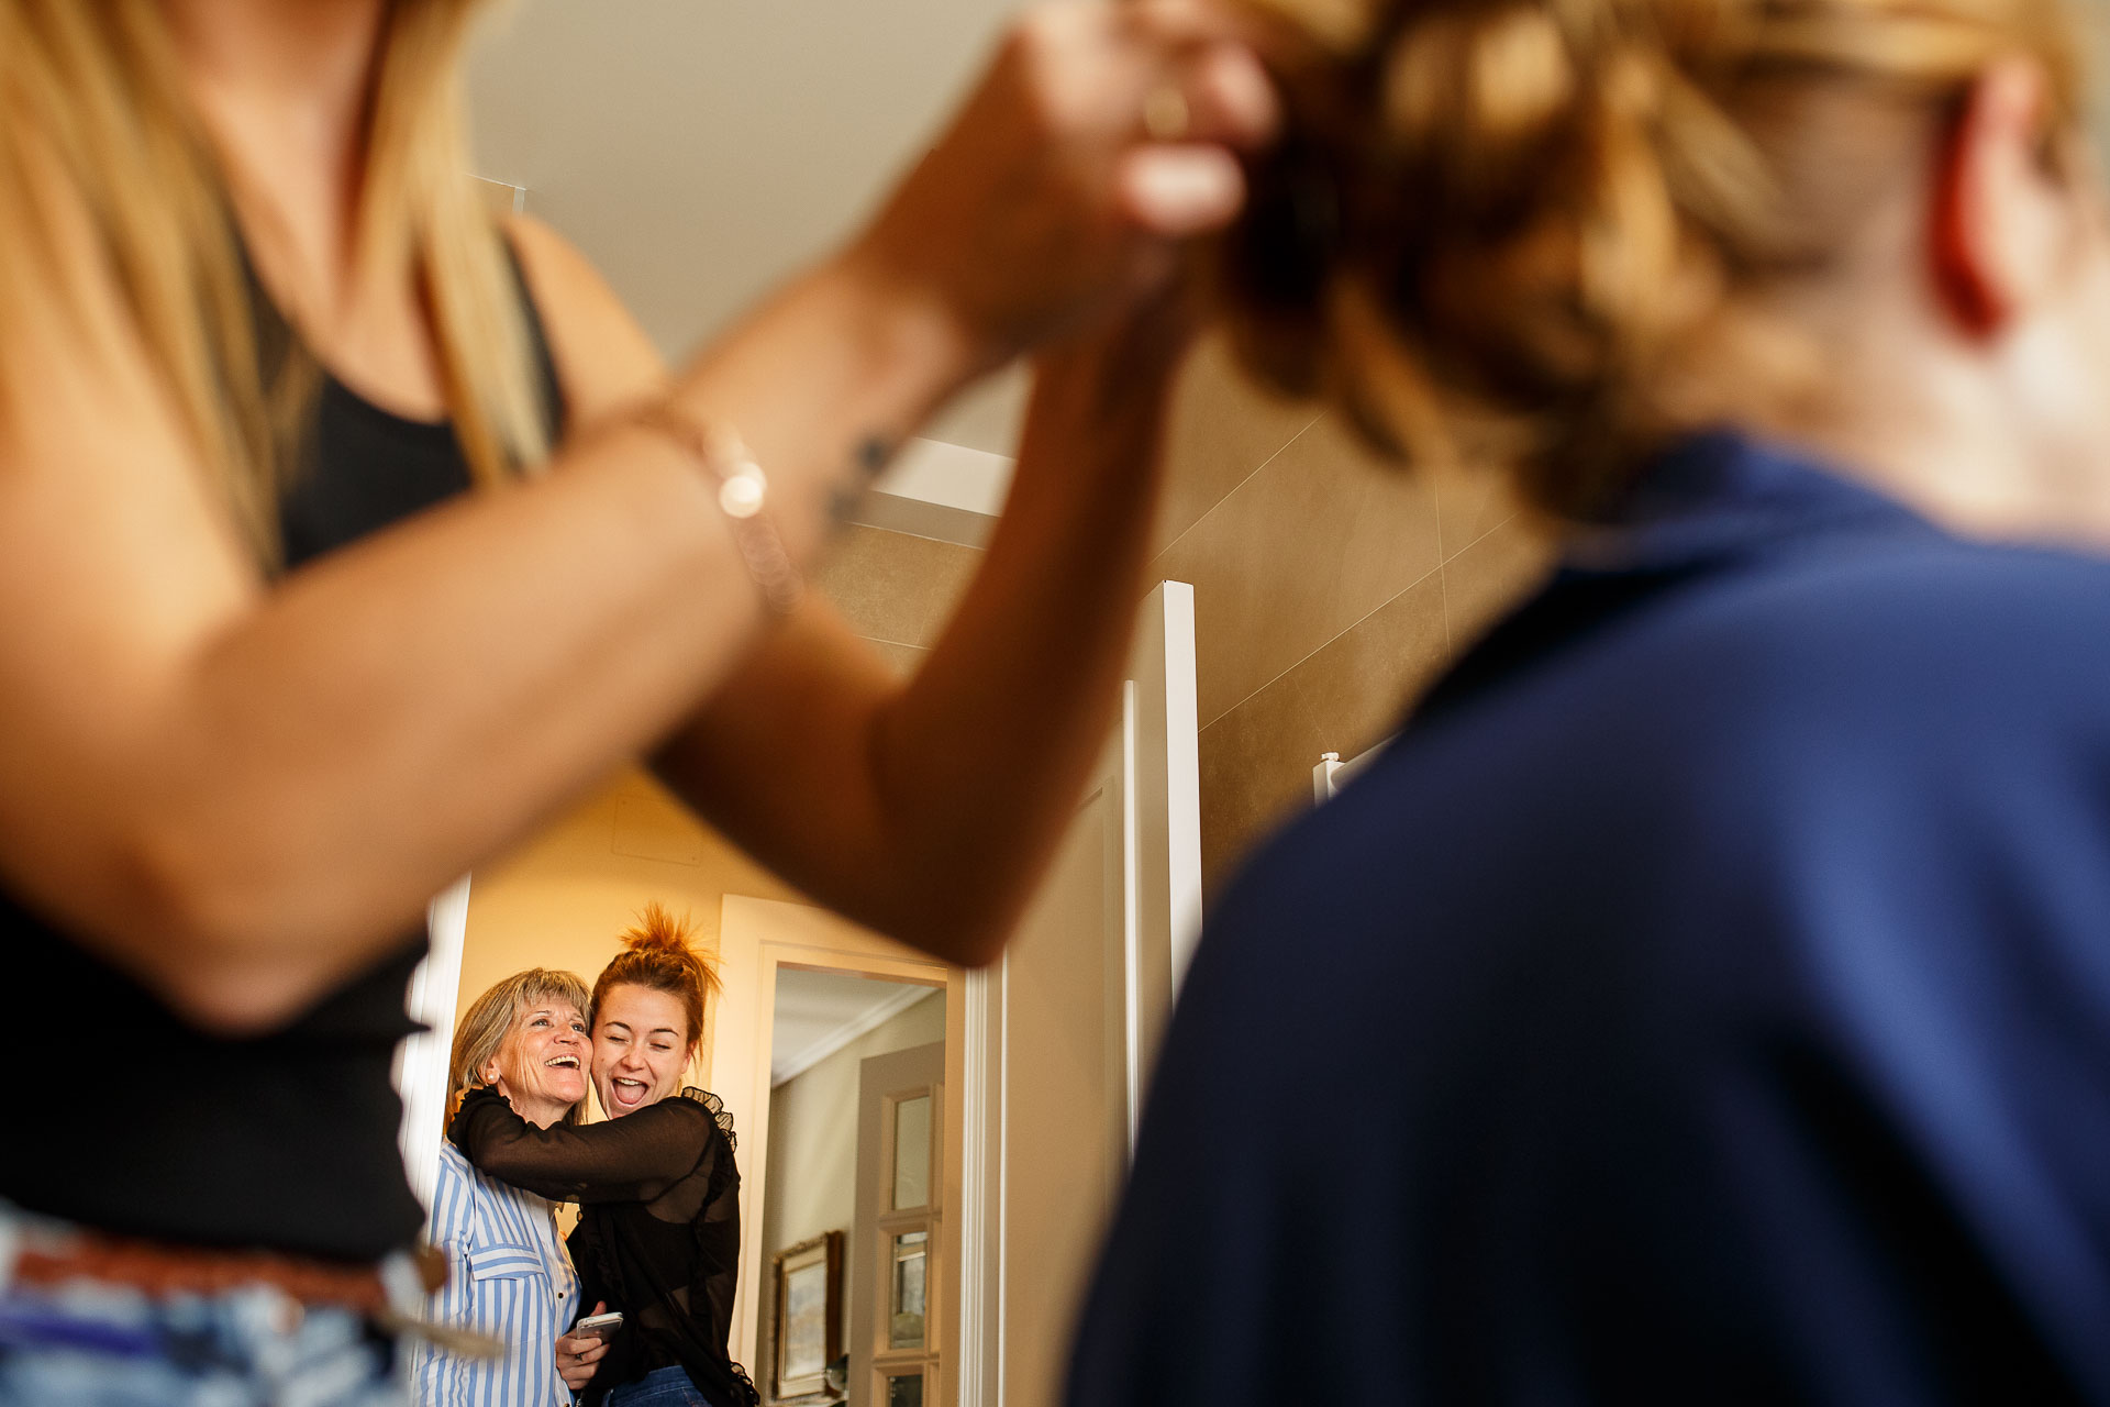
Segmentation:
[[(517, 0), (471, 63), (479, 175), (523, 186), (669, 356), (846, 238), (1017, 0)], [(928, 435), (1011, 456), (1021, 378)]]

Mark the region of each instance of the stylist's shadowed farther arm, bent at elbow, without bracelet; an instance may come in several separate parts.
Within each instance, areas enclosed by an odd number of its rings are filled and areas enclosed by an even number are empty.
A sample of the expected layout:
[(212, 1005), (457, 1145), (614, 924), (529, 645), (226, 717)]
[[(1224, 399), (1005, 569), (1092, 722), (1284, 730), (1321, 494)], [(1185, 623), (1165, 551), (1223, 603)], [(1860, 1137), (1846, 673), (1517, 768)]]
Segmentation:
[(1112, 721), (1182, 331), (1158, 308), (1042, 361), (990, 557), (907, 686), (808, 616), (660, 772), (831, 907), (950, 962), (992, 960)]

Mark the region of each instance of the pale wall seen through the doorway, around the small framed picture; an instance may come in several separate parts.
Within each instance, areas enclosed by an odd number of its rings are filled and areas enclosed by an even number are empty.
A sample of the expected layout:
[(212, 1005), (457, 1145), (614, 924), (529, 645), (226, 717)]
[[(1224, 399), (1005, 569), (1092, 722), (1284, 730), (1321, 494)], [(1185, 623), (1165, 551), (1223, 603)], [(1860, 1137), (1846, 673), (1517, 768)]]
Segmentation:
[[(933, 991), (842, 1051), (770, 1091), (770, 1169), (762, 1196), (762, 1274), (785, 1247), (842, 1232), (842, 1342), (850, 1342), (850, 1221), (857, 1215), (857, 1074), (874, 1055), (945, 1040), (945, 994)], [(764, 1285), (762, 1352), (749, 1367), (768, 1392), (776, 1361), (774, 1283)]]

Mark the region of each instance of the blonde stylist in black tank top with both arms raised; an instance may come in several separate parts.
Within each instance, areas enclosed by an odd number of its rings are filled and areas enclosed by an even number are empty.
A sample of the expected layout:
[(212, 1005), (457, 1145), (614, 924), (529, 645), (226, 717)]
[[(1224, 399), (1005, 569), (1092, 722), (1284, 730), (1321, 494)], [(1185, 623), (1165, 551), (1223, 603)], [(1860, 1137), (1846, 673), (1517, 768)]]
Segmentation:
[[(1028, 11), (871, 224), (669, 373), (481, 215), (481, 8), (0, 0), (0, 926), (156, 1072), (0, 1141), (0, 1401), (397, 1401), (426, 897), (622, 759), (981, 962), (1104, 730), (1160, 304), (1272, 118), (1249, 55), (1186, 0)], [(987, 567), (897, 683), (800, 574), (1051, 338)]]

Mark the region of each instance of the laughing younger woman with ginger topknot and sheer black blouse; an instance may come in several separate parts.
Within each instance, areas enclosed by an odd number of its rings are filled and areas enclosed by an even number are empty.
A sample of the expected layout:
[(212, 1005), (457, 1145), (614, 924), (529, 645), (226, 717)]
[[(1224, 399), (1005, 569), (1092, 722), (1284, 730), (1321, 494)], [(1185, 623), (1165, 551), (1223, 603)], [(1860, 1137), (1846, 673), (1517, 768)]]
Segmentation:
[(570, 1240), (580, 1302), (622, 1312), (606, 1348), (559, 1344), (565, 1380), (589, 1407), (755, 1401), (728, 1350), (741, 1274), (732, 1116), (682, 1080), (717, 991), (690, 937), (652, 903), (593, 983), (593, 1091), (606, 1122), (536, 1126), (490, 1093), (473, 1093), (454, 1118), (452, 1139), (481, 1173), (580, 1202)]

